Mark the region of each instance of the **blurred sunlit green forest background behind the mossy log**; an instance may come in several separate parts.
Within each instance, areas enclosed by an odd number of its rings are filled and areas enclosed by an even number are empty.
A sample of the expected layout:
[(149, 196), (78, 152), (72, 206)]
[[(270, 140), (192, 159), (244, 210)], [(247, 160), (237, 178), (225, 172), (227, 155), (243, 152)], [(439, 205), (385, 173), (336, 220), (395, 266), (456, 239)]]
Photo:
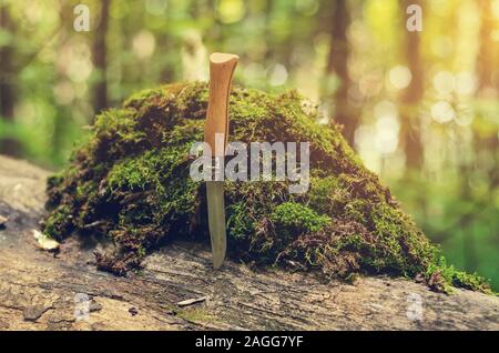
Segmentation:
[(0, 0), (0, 153), (60, 169), (95, 113), (206, 80), (213, 51), (241, 56), (237, 83), (317, 102), (448, 260), (499, 289), (499, 0)]

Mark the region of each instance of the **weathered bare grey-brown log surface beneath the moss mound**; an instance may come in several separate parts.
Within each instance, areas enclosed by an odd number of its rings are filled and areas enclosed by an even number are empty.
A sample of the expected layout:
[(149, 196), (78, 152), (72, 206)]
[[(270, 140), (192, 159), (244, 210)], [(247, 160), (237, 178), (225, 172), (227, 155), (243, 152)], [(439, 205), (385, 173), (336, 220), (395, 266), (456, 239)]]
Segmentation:
[[(78, 239), (54, 258), (37, 249), (31, 234), (45, 176), (0, 157), (0, 215), (9, 219), (0, 229), (0, 330), (499, 329), (495, 296), (460, 290), (449, 296), (401, 279), (324, 283), (313, 274), (256, 273), (234, 262), (214, 272), (200, 244), (165, 246), (126, 278), (96, 271), (94, 244)], [(83, 320), (75, 315), (79, 295), (91, 300)], [(192, 299), (202, 300), (177, 305)], [(417, 299), (419, 317), (411, 306)]]

